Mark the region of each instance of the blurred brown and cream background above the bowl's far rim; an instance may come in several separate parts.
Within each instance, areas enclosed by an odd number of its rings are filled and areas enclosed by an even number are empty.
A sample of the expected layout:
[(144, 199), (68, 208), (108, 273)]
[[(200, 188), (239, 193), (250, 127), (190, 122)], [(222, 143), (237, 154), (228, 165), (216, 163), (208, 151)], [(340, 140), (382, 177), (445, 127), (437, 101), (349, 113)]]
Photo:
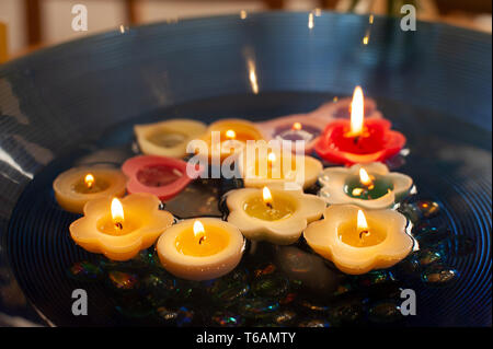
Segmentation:
[[(403, 3), (415, 4), (420, 20), (491, 33), (491, 0), (0, 0), (0, 61), (121, 25), (264, 10), (400, 15)], [(71, 28), (74, 4), (88, 9), (87, 32)]]

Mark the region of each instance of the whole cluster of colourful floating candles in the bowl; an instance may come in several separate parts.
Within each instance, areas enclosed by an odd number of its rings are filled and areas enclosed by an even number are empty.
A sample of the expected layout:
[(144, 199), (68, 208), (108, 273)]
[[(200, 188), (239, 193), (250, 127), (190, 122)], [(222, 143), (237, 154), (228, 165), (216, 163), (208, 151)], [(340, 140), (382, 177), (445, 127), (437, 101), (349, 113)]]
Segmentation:
[[(163, 268), (184, 279), (228, 274), (240, 263), (245, 239), (289, 245), (303, 236), (343, 272), (388, 268), (413, 247), (406, 219), (392, 210), (413, 182), (381, 163), (401, 150), (405, 138), (366, 101), (365, 107), (357, 88), (352, 101), (266, 123), (223, 119), (207, 127), (174, 119), (137, 125), (142, 154), (121, 170), (71, 168), (55, 179), (55, 197), (61, 208), (83, 214), (69, 228), (82, 248), (127, 260), (156, 245)], [(205, 144), (195, 155), (207, 164), (220, 167), (233, 159), (243, 187), (226, 194), (223, 220), (197, 217), (175, 223), (161, 205), (205, 172), (184, 161), (194, 140)], [(302, 142), (306, 154), (265, 146), (259, 148), (263, 155), (248, 156), (250, 141), (268, 140)], [(324, 161), (352, 166), (323, 168), (308, 155), (313, 151)], [(318, 195), (306, 194), (317, 182)]]

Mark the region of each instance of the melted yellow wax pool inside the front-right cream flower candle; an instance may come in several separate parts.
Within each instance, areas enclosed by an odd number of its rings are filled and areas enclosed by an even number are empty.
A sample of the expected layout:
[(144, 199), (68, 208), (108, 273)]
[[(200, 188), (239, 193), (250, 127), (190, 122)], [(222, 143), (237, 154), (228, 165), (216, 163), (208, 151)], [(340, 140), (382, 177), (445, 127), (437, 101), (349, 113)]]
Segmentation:
[(362, 231), (355, 222), (346, 222), (339, 226), (337, 237), (343, 243), (354, 247), (369, 247), (383, 242), (387, 233), (385, 230), (375, 226)]

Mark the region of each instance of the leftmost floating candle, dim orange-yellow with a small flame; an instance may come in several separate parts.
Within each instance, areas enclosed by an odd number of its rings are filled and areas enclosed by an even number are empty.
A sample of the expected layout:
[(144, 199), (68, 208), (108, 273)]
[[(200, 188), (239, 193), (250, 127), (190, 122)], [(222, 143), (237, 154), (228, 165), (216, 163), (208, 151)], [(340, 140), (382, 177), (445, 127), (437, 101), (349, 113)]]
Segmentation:
[(73, 167), (58, 175), (53, 183), (55, 198), (65, 210), (82, 213), (89, 200), (125, 195), (126, 178), (110, 166)]

